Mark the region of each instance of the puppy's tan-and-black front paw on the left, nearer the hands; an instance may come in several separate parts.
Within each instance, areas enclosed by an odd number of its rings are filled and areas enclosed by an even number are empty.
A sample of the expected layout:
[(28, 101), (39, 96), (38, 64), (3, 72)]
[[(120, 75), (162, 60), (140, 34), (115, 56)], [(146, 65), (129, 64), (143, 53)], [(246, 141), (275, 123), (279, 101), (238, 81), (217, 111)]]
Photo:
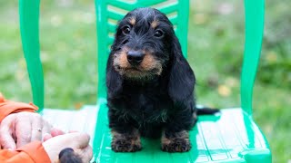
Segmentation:
[(142, 149), (138, 134), (129, 135), (112, 131), (112, 135), (111, 149), (115, 152), (135, 152)]

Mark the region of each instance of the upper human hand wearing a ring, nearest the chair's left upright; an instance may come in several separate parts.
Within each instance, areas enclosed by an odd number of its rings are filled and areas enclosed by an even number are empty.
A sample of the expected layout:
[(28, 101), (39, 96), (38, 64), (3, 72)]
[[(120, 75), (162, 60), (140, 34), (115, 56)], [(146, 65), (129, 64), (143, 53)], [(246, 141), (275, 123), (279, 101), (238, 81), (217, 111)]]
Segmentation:
[(42, 140), (45, 134), (50, 134), (51, 128), (37, 113), (13, 113), (0, 124), (0, 143), (4, 149), (17, 149), (31, 141)]

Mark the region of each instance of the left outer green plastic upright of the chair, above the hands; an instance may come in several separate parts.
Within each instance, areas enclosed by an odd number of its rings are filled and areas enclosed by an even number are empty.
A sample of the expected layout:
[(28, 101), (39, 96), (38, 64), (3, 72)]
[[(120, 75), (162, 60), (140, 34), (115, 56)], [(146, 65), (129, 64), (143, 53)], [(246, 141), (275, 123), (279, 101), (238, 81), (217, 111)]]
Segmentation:
[(33, 100), (35, 105), (39, 107), (38, 111), (41, 111), (44, 108), (45, 89), (43, 67), (39, 55), (39, 3), (39, 0), (19, 0), (19, 24)]

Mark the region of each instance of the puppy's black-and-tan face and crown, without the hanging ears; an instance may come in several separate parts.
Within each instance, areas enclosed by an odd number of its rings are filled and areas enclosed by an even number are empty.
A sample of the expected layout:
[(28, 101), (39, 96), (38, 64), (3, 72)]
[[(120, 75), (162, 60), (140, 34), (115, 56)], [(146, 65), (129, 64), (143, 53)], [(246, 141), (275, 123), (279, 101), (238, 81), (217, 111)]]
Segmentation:
[(169, 61), (173, 25), (153, 8), (137, 8), (119, 22), (112, 46), (113, 66), (127, 79), (151, 79)]

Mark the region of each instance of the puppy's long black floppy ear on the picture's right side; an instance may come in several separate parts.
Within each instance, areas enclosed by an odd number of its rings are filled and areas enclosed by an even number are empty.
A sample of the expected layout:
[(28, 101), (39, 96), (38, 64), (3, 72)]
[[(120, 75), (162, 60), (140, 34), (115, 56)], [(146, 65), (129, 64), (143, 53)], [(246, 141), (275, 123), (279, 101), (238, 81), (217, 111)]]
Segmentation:
[(184, 101), (193, 97), (196, 82), (194, 72), (182, 54), (181, 45), (174, 36), (170, 56), (168, 93), (173, 101)]

